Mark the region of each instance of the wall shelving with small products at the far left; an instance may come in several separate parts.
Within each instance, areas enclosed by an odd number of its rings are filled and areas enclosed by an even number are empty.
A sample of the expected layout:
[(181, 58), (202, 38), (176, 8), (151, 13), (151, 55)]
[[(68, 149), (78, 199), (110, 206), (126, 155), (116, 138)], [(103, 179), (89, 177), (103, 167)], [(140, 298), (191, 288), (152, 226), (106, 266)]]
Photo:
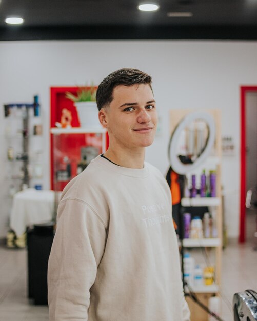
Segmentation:
[[(43, 187), (43, 136), (38, 96), (34, 96), (34, 103), (5, 104), (4, 115), (6, 202), (2, 210), (9, 221), (14, 194), (26, 188)], [(14, 232), (9, 231), (7, 246), (15, 247), (15, 239)]]

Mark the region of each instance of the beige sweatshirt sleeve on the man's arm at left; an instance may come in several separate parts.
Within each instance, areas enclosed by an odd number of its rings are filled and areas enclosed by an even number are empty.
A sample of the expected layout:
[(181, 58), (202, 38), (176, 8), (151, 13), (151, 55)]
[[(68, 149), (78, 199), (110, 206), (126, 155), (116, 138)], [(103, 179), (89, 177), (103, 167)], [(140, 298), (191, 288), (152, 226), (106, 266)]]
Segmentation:
[(88, 320), (105, 242), (105, 224), (90, 206), (76, 199), (60, 203), (48, 262), (49, 321)]

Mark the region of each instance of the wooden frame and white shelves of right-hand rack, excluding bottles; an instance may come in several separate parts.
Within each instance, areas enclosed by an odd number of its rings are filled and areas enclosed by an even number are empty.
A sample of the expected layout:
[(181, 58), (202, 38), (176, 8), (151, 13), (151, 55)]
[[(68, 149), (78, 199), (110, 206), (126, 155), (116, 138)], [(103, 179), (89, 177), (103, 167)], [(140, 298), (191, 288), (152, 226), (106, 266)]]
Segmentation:
[[(182, 119), (194, 110), (172, 110), (170, 111), (170, 130), (175, 130)], [(208, 307), (208, 299), (213, 295), (219, 295), (221, 284), (221, 257), (222, 257), (222, 198), (221, 198), (221, 130), (220, 130), (220, 111), (204, 110), (209, 113), (215, 121), (215, 143), (210, 156), (197, 168), (196, 174), (199, 175), (206, 168), (215, 168), (216, 170), (216, 197), (183, 197), (181, 200), (182, 207), (208, 207), (209, 212), (214, 211), (216, 214), (216, 231), (217, 236), (214, 238), (183, 238), (180, 241), (182, 249), (182, 270), (183, 270), (183, 253), (185, 249), (190, 251), (192, 256), (201, 256), (204, 250), (208, 255), (212, 255), (214, 260), (215, 278), (212, 285), (195, 286), (190, 285), (190, 291), (197, 293), (197, 299), (201, 302), (197, 304), (190, 295), (186, 296), (190, 312), (191, 321), (207, 321), (208, 313), (204, 309)], [(193, 171), (186, 174), (187, 177), (195, 174)], [(198, 250), (197, 250), (198, 249)], [(185, 287), (185, 293), (189, 293), (189, 288)], [(202, 307), (201, 307), (201, 304)]]

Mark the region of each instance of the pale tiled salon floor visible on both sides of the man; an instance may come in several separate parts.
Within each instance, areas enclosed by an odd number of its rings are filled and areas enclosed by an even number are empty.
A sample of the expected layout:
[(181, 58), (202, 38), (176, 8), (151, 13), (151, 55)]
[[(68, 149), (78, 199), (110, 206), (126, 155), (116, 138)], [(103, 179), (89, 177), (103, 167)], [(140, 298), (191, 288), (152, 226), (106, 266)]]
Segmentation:
[[(246, 289), (257, 291), (257, 251), (253, 250), (252, 236), (256, 227), (255, 215), (253, 211), (247, 213), (247, 242), (241, 245), (230, 241), (223, 251), (221, 317), (224, 321), (233, 321), (234, 293)], [(27, 298), (25, 249), (6, 249), (3, 245), (0, 247), (0, 320), (48, 320), (47, 306), (34, 306)]]

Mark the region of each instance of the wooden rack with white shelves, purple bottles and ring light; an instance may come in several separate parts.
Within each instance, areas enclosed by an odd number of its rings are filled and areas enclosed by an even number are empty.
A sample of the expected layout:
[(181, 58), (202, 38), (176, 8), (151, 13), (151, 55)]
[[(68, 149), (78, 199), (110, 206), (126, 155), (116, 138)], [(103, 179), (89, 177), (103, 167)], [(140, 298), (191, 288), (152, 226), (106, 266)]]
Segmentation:
[[(198, 285), (190, 283), (190, 288), (193, 292), (199, 293), (199, 299), (205, 306), (208, 306), (210, 295), (219, 293), (221, 283), (220, 121), (220, 110), (170, 111), (170, 164), (173, 171), (179, 169), (175, 172), (183, 182), (179, 213), (183, 229), (179, 241), (183, 280), (187, 282), (188, 275), (194, 276), (194, 269), (199, 265), (202, 273), (205, 269), (207, 272), (208, 269), (212, 271), (213, 279), (208, 285), (204, 282)], [(212, 257), (211, 262), (209, 256)], [(188, 265), (190, 260), (191, 265)], [(186, 285), (185, 292), (188, 293), (191, 321), (207, 320), (207, 313), (192, 302)]]

